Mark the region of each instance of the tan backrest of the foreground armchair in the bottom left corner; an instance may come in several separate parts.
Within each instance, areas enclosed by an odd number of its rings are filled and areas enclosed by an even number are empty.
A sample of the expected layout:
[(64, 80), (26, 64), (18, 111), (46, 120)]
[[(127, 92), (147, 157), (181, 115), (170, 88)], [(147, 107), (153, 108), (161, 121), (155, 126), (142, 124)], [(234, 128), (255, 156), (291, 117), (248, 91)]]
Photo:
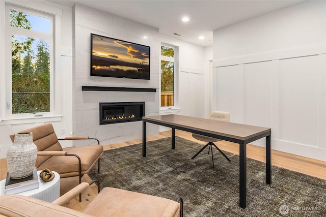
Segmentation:
[(53, 205), (51, 203), (31, 197), (20, 195), (0, 196), (0, 215), (5, 216), (80, 216), (90, 217), (90, 215), (67, 207)]

